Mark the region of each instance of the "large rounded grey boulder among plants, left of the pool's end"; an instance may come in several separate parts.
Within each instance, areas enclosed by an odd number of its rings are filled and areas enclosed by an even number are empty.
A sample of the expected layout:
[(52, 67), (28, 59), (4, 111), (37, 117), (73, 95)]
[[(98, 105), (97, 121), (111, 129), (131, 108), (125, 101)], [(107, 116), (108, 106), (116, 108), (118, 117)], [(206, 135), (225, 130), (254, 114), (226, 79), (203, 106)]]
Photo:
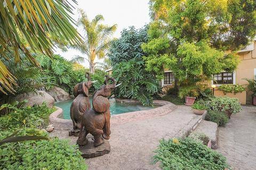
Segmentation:
[(43, 102), (45, 102), (47, 107), (52, 108), (54, 104), (53, 97), (44, 91), (37, 92), (37, 94), (19, 94), (17, 95), (16, 100), (19, 102), (28, 100), (28, 102), (25, 104), (26, 106), (34, 106), (35, 104), (41, 105)]

